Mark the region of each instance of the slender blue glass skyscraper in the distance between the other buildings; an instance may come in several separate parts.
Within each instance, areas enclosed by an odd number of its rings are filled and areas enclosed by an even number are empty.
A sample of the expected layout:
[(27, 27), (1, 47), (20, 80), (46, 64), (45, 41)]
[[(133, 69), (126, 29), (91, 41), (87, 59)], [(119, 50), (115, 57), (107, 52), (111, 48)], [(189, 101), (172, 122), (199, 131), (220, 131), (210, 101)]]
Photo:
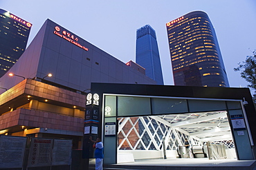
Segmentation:
[(163, 85), (161, 61), (156, 41), (156, 32), (150, 25), (137, 30), (136, 63), (145, 68), (146, 76), (158, 85)]

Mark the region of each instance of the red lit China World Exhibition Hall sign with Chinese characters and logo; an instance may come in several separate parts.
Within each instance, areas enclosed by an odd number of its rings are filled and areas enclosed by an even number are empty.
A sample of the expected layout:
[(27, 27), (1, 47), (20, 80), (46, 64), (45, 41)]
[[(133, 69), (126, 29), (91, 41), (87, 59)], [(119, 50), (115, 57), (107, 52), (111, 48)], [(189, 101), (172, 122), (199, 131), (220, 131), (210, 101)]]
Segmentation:
[(62, 37), (63, 39), (66, 39), (66, 41), (69, 41), (69, 42), (77, 45), (77, 47), (80, 47), (80, 48), (88, 51), (88, 48), (84, 47), (83, 45), (81, 45), (80, 43), (77, 42), (78, 38), (75, 35), (73, 35), (69, 32), (66, 32), (65, 30), (60, 32), (60, 30), (61, 30), (60, 27), (56, 26), (55, 31), (53, 33), (56, 34), (57, 36)]

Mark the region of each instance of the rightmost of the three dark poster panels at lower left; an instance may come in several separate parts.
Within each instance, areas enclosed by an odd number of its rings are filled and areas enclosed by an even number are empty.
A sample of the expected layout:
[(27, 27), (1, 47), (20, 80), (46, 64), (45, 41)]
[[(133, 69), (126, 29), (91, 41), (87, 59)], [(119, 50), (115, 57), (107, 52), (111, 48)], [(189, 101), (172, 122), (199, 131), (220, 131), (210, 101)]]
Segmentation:
[(55, 139), (52, 165), (71, 164), (72, 140)]

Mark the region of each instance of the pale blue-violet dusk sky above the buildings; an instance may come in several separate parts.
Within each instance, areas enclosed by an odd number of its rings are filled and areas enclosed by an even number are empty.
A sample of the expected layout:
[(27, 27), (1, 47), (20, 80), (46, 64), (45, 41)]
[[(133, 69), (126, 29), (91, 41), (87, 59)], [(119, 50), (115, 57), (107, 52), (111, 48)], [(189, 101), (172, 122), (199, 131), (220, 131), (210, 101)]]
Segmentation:
[(165, 23), (202, 10), (214, 25), (230, 87), (248, 83), (234, 72), (256, 50), (255, 0), (0, 0), (0, 8), (33, 24), (30, 43), (46, 19), (127, 63), (135, 61), (136, 30), (156, 30), (165, 85), (174, 85)]

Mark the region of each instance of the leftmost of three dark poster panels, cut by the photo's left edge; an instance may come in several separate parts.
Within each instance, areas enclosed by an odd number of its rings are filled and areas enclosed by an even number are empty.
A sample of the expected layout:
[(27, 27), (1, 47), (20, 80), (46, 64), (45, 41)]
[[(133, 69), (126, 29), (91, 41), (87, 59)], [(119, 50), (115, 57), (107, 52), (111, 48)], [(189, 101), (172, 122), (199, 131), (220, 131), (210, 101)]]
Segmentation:
[(22, 168), (26, 137), (0, 136), (0, 168)]

